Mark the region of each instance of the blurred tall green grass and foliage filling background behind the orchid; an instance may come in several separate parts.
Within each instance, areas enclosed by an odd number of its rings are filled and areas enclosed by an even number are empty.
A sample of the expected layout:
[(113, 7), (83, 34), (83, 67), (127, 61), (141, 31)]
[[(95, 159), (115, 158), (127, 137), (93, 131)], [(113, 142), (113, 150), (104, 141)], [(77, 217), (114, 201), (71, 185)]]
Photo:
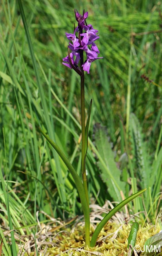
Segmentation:
[[(56, 142), (81, 175), (80, 83), (74, 70), (62, 65), (65, 32), (73, 31), (76, 22), (74, 9), (88, 11), (89, 22), (100, 32), (98, 48), (104, 56), (85, 78), (87, 112), (93, 99), (86, 166), (89, 198), (102, 206), (147, 188), (125, 211), (142, 211), (142, 226), (160, 224), (160, 1), (22, 3), (29, 34), (18, 1), (2, 0), (0, 6), (0, 250), (17, 255), (15, 239), (21, 244), (25, 234), (33, 234), (36, 248), (39, 224), (82, 214), (71, 174), (38, 129)], [(10, 230), (5, 237), (4, 229)]]

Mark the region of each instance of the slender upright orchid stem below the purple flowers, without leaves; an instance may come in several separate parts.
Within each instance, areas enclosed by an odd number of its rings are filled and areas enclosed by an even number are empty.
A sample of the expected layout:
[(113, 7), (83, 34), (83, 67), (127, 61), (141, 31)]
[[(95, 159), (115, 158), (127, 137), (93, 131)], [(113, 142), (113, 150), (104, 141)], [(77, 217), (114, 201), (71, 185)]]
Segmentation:
[[(86, 126), (85, 126), (85, 98), (84, 98), (84, 71), (82, 70), (82, 76), (80, 76), (80, 103), (81, 103), (81, 126), (82, 126), (82, 160), (81, 160), (81, 169), (82, 169), (82, 179), (83, 187), (86, 194), (86, 200), (89, 210), (89, 197), (88, 197), (88, 188), (87, 188), (87, 176), (86, 176)], [(85, 223), (86, 224), (86, 223)], [(85, 225), (85, 236), (86, 236), (86, 245), (89, 245), (90, 239), (90, 217), (89, 217), (89, 226)]]

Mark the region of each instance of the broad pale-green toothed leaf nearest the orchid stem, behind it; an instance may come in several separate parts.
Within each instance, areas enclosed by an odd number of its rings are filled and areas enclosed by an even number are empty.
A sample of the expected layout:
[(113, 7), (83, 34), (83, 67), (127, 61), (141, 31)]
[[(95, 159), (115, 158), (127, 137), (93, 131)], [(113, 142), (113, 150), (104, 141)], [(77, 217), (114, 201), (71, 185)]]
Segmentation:
[(114, 160), (115, 154), (111, 149), (111, 143), (107, 137), (105, 127), (96, 125), (95, 128), (95, 145), (100, 154), (98, 166), (101, 170), (101, 178), (107, 185), (107, 190), (113, 200), (120, 201), (120, 191), (125, 193), (125, 182), (120, 180), (121, 172), (116, 166)]

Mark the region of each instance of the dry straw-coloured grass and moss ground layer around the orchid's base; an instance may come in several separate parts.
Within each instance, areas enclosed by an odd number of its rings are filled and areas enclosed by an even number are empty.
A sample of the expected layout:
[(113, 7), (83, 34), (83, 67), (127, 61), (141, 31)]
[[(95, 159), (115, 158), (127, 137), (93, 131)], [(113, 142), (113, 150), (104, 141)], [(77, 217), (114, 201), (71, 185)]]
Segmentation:
[[(107, 201), (103, 207), (91, 205), (91, 233), (96, 224), (103, 218), (102, 214), (107, 212), (109, 206), (113, 205)], [(125, 213), (117, 213), (111, 221), (104, 227), (98, 237), (97, 245), (94, 248), (88, 248), (84, 242), (84, 221), (83, 216), (75, 217), (66, 222), (59, 219), (53, 219), (47, 216), (51, 223), (40, 224), (38, 220), (38, 232), (35, 237), (19, 236), (15, 233), (19, 256), (35, 256), (36, 250), (40, 256), (81, 256), (81, 255), (101, 255), (101, 256), (124, 256), (127, 255), (127, 237), (131, 230), (131, 221), (137, 221), (138, 215), (129, 216)], [(157, 224), (146, 224), (143, 228), (140, 226), (137, 236), (137, 245), (141, 249), (145, 241), (157, 234), (160, 226)], [(7, 234), (9, 236), (9, 234)], [(138, 254), (142, 255), (142, 254)]]

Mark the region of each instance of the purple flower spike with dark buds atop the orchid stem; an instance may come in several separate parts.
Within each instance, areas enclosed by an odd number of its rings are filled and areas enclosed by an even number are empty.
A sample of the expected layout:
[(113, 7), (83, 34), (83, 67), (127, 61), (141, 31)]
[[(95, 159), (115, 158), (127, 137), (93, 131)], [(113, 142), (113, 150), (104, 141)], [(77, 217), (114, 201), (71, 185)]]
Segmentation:
[[(98, 58), (100, 51), (94, 43), (98, 38), (98, 30), (94, 29), (91, 24), (87, 25), (86, 19), (88, 12), (83, 11), (83, 15), (75, 10), (75, 18), (78, 22), (78, 26), (75, 28), (74, 33), (65, 33), (69, 41), (69, 55), (63, 59), (63, 64), (70, 69), (74, 69), (80, 76), (84, 75), (84, 71), (89, 74), (91, 63)], [(86, 23), (86, 25), (85, 25)], [(76, 35), (77, 34), (77, 35)], [(87, 59), (84, 61), (84, 54), (86, 52)], [(70, 58), (70, 59), (69, 59)], [(80, 62), (80, 67), (78, 63)]]

